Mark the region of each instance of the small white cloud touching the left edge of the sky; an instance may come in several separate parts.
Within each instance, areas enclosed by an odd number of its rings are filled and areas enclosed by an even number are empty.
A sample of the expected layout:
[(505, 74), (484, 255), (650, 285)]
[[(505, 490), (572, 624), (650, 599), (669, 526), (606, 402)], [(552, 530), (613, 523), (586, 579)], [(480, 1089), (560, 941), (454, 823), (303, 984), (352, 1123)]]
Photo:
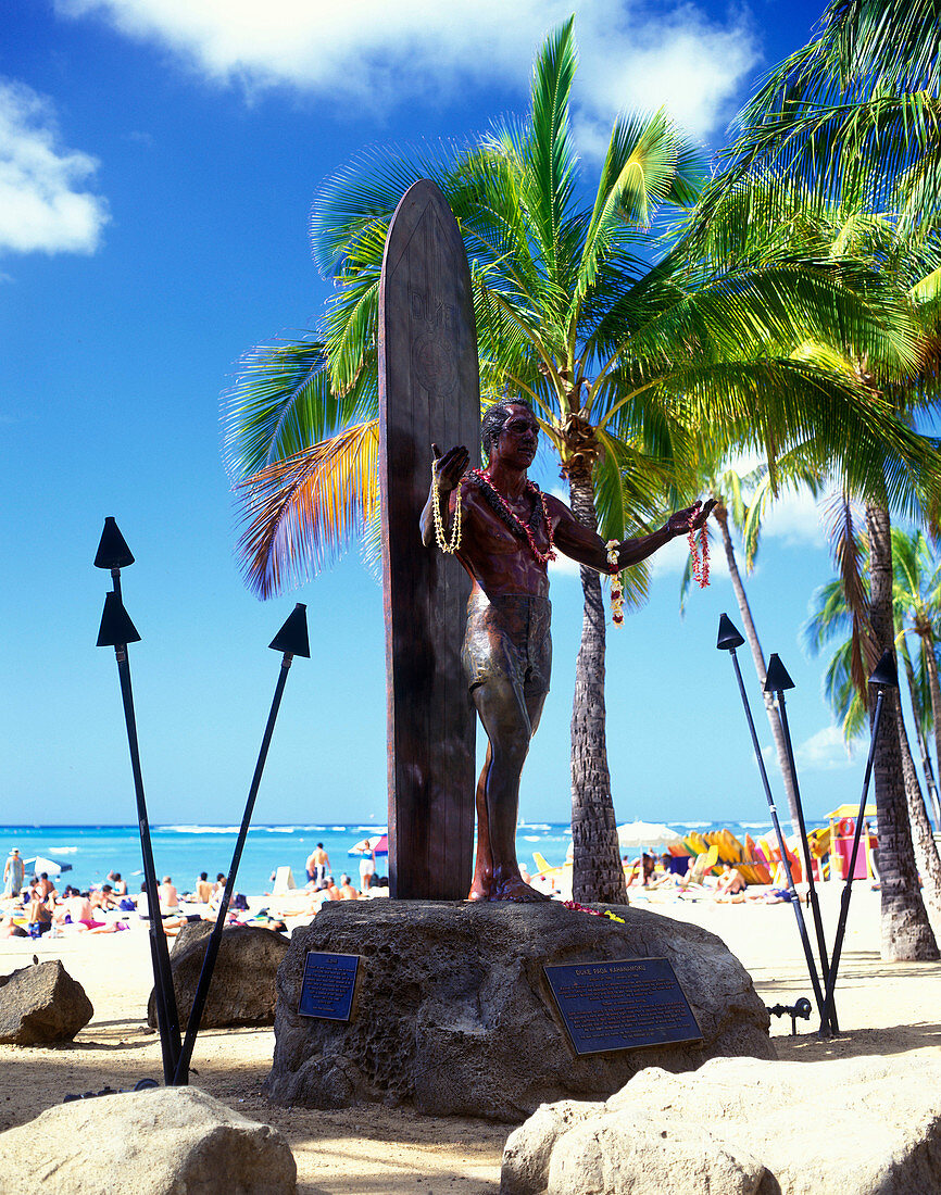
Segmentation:
[(60, 143), (47, 99), (0, 79), (0, 252), (93, 253), (108, 209), (83, 188), (97, 167)]

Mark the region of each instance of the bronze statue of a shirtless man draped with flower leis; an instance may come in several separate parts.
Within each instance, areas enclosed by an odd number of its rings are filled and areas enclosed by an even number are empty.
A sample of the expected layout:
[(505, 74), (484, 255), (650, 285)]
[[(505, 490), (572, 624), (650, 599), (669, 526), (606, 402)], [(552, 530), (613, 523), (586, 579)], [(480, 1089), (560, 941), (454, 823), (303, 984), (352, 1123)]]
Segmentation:
[[(435, 479), (421, 514), (422, 540), (430, 547), (436, 538), (451, 535), (459, 510), (456, 554), (472, 581), (462, 663), (488, 746), (477, 783), (470, 900), (543, 900), (520, 876), (517, 813), (523, 764), (549, 692), (548, 562), (556, 547), (599, 572), (613, 570), (600, 535), (528, 480), (539, 435), (530, 405), (509, 399), (490, 406), (481, 435), (489, 460), (485, 472), (468, 471), (465, 447), (441, 455), (432, 445)], [(693, 527), (701, 527), (713, 505), (697, 502), (671, 515), (653, 535), (625, 539), (617, 568), (637, 564), (685, 534), (691, 517)]]

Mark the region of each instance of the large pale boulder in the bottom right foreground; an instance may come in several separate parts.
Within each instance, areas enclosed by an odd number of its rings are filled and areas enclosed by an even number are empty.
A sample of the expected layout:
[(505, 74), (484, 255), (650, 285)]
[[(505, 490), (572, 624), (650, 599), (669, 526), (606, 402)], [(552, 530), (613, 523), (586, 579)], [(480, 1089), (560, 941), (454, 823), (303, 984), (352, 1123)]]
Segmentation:
[(939, 1191), (941, 1062), (715, 1058), (693, 1076), (652, 1067), (604, 1103), (539, 1108), (503, 1151), (501, 1195), (664, 1190)]

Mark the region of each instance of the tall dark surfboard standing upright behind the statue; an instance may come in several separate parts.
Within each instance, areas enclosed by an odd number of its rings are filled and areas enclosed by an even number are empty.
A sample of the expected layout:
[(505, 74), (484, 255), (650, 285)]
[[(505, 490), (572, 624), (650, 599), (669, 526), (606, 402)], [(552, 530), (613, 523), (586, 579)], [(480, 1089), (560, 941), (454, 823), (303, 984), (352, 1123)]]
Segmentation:
[(389, 228), (379, 292), (379, 486), (389, 744), (389, 878), (399, 900), (464, 900), (476, 715), (460, 668), (470, 581), (422, 545), (432, 442), (479, 462), (470, 270), (441, 191), (415, 183)]

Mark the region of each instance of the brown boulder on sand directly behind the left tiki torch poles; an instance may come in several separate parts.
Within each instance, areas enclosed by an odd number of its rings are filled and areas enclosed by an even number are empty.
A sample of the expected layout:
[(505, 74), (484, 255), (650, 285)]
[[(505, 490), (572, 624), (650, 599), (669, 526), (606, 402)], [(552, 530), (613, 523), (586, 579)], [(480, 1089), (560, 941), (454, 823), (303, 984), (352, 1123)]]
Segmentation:
[[(193, 1007), (212, 931), (210, 921), (191, 921), (183, 926), (173, 943), (170, 969), (173, 973), (173, 991), (183, 1025)], [(275, 974), (287, 954), (287, 938), (276, 930), (255, 925), (227, 926), (222, 931), (201, 1027), (212, 1029), (224, 1025), (273, 1024)], [(147, 1001), (147, 1024), (157, 1027), (153, 992)]]

